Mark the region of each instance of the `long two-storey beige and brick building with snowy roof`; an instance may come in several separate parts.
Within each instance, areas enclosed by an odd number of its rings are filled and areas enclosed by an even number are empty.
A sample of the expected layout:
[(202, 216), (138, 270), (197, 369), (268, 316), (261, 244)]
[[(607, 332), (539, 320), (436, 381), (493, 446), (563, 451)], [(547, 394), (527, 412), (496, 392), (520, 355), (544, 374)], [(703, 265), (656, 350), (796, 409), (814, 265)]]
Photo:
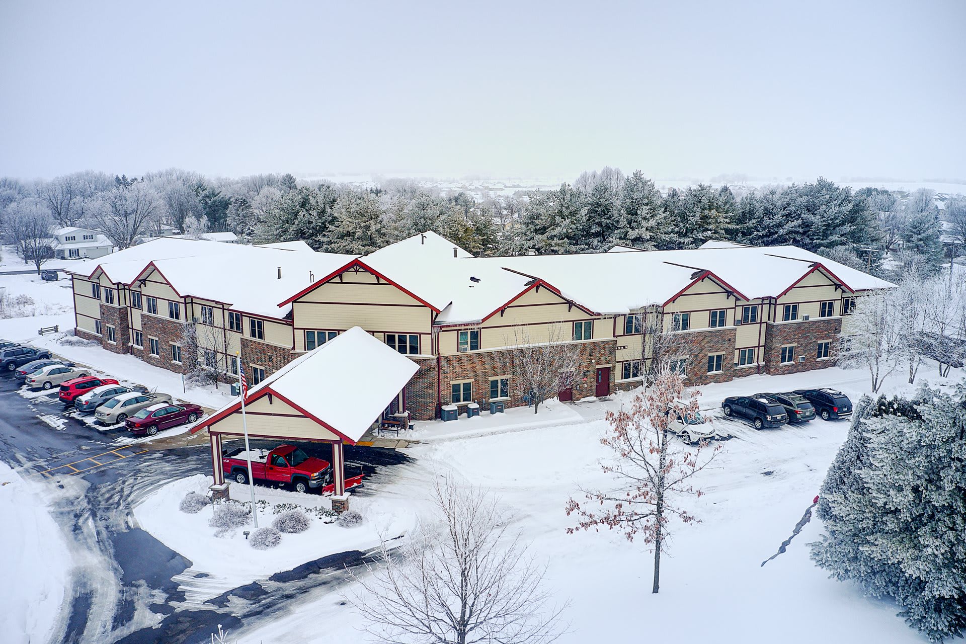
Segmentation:
[(855, 298), (893, 286), (795, 246), (717, 241), (473, 258), (435, 233), (365, 257), (163, 238), (109, 260), (72, 275), (77, 334), (105, 349), (180, 371), (192, 324), (202, 364), (234, 378), (238, 352), (257, 383), (361, 326), (419, 366), (387, 409), (416, 419), (440, 405), (523, 404), (508, 367), (521, 345), (576, 347), (564, 401), (637, 386), (655, 360), (689, 384), (820, 369), (835, 363)]

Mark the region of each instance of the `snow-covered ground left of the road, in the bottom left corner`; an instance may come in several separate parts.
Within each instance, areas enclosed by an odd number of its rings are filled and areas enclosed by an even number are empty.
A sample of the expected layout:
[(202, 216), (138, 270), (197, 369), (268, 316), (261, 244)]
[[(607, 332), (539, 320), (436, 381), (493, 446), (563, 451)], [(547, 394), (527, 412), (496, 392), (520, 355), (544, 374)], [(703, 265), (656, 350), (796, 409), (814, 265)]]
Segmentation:
[(6, 463), (0, 462), (0, 640), (45, 642), (67, 595), (71, 555), (43, 498)]

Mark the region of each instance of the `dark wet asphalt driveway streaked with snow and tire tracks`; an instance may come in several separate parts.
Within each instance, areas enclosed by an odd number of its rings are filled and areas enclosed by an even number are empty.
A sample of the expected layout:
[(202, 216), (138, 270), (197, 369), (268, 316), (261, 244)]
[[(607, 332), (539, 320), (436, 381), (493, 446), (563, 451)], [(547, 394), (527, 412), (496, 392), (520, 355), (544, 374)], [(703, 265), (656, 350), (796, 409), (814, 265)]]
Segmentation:
[[(124, 430), (98, 432), (66, 415), (56, 390), (27, 400), (17, 388), (14, 378), (0, 376), (0, 460), (34, 479), (41, 490), (46, 487), (54, 499), (52, 515), (71, 546), (76, 567), (55, 641), (210, 642), (217, 625), (238, 630), (256, 624), (294, 599), (328, 592), (328, 586), (341, 583), (345, 566), (364, 561), (363, 552), (343, 552), (203, 604), (185, 602), (173, 577), (191, 562), (141, 530), (132, 508), (172, 479), (209, 473), (207, 441), (187, 440), (185, 435), (165, 438), (162, 433), (150, 443), (119, 446), (114, 441), (126, 434)], [(274, 446), (265, 441), (252, 444)], [(328, 458), (325, 445), (299, 446), (310, 455)], [(346, 459), (367, 473), (408, 460), (394, 450), (364, 447), (347, 447)]]

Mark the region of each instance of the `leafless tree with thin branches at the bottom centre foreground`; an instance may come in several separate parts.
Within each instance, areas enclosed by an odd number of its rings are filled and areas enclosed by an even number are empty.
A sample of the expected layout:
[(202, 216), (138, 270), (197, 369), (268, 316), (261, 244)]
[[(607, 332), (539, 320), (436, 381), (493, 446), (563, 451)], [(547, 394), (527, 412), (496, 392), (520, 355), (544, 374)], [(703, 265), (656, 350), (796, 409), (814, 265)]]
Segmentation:
[(546, 567), (528, 554), (497, 499), (437, 481), (439, 524), (420, 525), (403, 546), (380, 549), (365, 591), (352, 598), (384, 644), (543, 644), (561, 633), (563, 607), (543, 590)]

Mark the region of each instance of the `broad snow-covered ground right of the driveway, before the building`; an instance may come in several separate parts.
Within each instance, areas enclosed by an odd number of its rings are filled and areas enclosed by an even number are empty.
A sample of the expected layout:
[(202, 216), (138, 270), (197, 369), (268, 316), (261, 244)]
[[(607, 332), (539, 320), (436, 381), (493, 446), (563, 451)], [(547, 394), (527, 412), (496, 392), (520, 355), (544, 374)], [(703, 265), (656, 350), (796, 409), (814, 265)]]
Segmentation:
[[(937, 380), (923, 368), (925, 379)], [(962, 370), (947, 382), (963, 377)], [(868, 390), (867, 373), (838, 368), (791, 376), (754, 376), (701, 387), (701, 407), (720, 407), (730, 395), (781, 391), (805, 386), (835, 386), (853, 400)], [(885, 393), (908, 391), (901, 375)], [(385, 480), (392, 507), (425, 508), (426, 481), (452, 474), (487, 487), (517, 513), (516, 525), (532, 552), (549, 564), (548, 582), (570, 629), (563, 643), (643, 640), (675, 642), (890, 642), (923, 644), (923, 637), (895, 616), (890, 602), (871, 600), (850, 583), (828, 578), (810, 561), (808, 544), (817, 539), (813, 518), (786, 553), (762, 567), (809, 507), (847, 433), (845, 421), (816, 419), (803, 426), (755, 431), (716, 418), (734, 434), (714, 466), (701, 474), (699, 499), (685, 501), (700, 523), (672, 524), (670, 552), (662, 559), (661, 593), (651, 595), (653, 555), (646, 546), (610, 533), (565, 534), (575, 524), (563, 508), (579, 485), (606, 486), (598, 459), (607, 456), (599, 438), (607, 429), (607, 409), (626, 401), (621, 393), (607, 402), (574, 406), (573, 417), (548, 426), (511, 429), (516, 414), (506, 414), (507, 431), (440, 439), (433, 428), (407, 451), (412, 462), (394, 467)], [(530, 414), (532, 415), (532, 414)], [(539, 416), (543, 415), (541, 411)], [(500, 416), (497, 415), (497, 419)], [(481, 417), (480, 422), (489, 420)], [(476, 419), (447, 423), (466, 427)], [(437, 439), (432, 439), (436, 437)], [(373, 485), (379, 485), (374, 482)], [(383, 496), (384, 490), (378, 490)], [(424, 510), (423, 510), (424, 511)], [(363, 508), (371, 515), (378, 508)], [(284, 546), (284, 544), (283, 544)], [(355, 592), (352, 588), (350, 592)], [(343, 604), (345, 591), (292, 602), (284, 614), (258, 628), (231, 633), (240, 644), (291, 642), (313, 625), (327, 626), (332, 641), (355, 641), (361, 625)]]

